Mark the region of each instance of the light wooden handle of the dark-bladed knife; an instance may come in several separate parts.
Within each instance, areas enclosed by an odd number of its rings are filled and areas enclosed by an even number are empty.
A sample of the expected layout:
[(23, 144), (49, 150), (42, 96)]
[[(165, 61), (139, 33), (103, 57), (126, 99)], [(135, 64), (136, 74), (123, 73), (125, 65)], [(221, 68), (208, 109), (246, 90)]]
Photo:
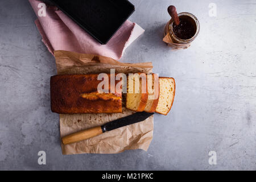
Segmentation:
[(101, 126), (93, 127), (91, 129), (82, 130), (76, 133), (72, 133), (62, 138), (63, 144), (80, 142), (81, 140), (86, 140), (88, 138), (95, 137), (102, 134)]

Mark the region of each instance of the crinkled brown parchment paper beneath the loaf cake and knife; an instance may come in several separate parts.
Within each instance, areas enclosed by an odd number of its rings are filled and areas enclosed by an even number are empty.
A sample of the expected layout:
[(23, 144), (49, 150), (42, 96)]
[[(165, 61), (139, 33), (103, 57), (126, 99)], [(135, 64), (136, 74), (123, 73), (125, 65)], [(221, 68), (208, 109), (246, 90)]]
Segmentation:
[[(112, 58), (68, 51), (55, 51), (55, 60), (58, 74), (87, 74), (152, 72), (152, 63), (120, 63)], [(90, 127), (101, 126), (106, 122), (133, 114), (122, 108), (122, 113), (113, 114), (60, 114), (60, 137), (75, 133)], [(97, 137), (81, 142), (63, 145), (62, 152), (67, 154), (117, 154), (125, 150), (141, 148), (147, 151), (153, 137), (153, 115), (146, 120), (133, 125), (115, 129)]]

